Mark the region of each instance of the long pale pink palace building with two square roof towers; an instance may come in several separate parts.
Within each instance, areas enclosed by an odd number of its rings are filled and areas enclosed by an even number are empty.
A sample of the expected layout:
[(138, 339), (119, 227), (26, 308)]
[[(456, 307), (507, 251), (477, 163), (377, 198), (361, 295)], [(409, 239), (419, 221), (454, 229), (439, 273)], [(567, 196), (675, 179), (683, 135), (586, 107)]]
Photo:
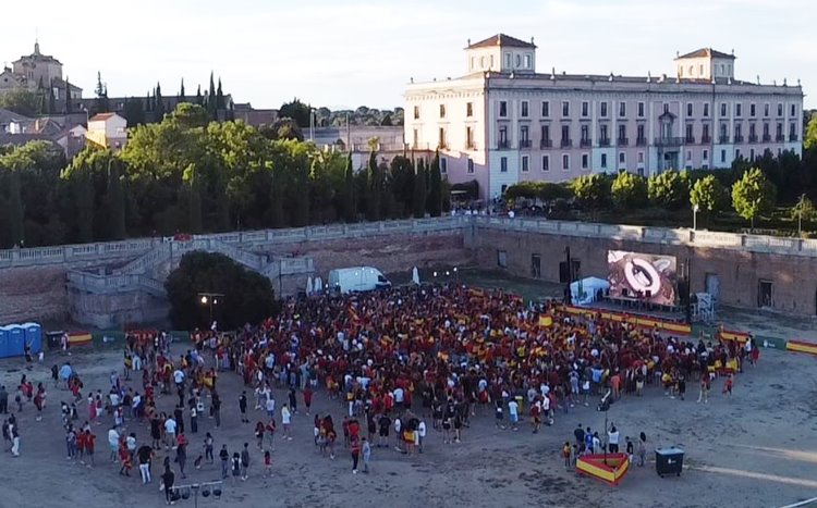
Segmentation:
[(439, 150), (448, 179), (476, 179), (481, 198), (523, 181), (802, 154), (800, 83), (735, 79), (735, 60), (704, 48), (678, 55), (674, 76), (541, 73), (533, 39), (499, 34), (468, 41), (464, 76), (407, 86), (404, 141)]

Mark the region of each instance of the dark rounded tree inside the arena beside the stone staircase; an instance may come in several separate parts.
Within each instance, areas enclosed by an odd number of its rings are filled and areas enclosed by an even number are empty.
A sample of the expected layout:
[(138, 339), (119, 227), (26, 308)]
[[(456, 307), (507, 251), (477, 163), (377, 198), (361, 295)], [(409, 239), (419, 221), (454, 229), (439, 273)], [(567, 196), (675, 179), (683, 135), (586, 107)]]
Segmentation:
[[(164, 288), (171, 306), (170, 319), (180, 330), (208, 326), (210, 309), (221, 330), (258, 323), (278, 310), (269, 278), (220, 253), (184, 255)], [(223, 296), (217, 302), (203, 303), (202, 293)]]

